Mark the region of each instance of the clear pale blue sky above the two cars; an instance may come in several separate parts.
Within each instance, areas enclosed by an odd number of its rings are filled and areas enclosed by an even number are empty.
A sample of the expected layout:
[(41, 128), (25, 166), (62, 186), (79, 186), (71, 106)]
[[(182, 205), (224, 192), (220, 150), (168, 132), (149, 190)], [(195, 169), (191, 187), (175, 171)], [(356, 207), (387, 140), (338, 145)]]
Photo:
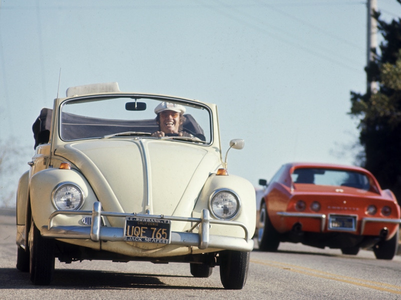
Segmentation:
[[(16, 166), (28, 169), (32, 124), (53, 106), (61, 69), (60, 96), (117, 81), (217, 103), (224, 153), (245, 140), (229, 173), (255, 186), (289, 161), (353, 164), (347, 113), (350, 91), (366, 88), (365, 2), (1, 0), (0, 141), (26, 146)], [(384, 19), (401, 16), (395, 0), (377, 5)]]

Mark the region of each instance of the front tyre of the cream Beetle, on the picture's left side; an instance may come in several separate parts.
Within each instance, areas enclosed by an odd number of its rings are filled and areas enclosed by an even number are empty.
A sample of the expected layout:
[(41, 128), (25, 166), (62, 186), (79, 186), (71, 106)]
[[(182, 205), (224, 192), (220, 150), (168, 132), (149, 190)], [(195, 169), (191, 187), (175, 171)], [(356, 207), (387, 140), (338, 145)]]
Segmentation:
[(30, 278), (36, 285), (49, 285), (54, 272), (54, 240), (44, 238), (32, 221), (29, 231)]

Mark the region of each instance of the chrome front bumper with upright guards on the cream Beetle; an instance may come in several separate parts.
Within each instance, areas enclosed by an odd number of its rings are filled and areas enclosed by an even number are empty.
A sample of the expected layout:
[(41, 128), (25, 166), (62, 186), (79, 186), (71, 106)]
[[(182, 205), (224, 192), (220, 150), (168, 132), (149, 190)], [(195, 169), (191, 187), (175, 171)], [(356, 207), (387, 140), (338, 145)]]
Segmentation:
[[(90, 215), (92, 223), (89, 226), (79, 225), (53, 225), (53, 219), (56, 215)], [(192, 222), (194, 225), (186, 232), (171, 231), (170, 244), (179, 246), (197, 246), (200, 249), (216, 248), (238, 251), (252, 251), (253, 239), (249, 237), (246, 226), (237, 221), (226, 221), (211, 219), (208, 209), (202, 209), (201, 217), (179, 217), (166, 215), (150, 215), (137, 213), (122, 213), (102, 211), (102, 204), (95, 202), (92, 211), (90, 210), (57, 210), (49, 217), (49, 223), (41, 228), (41, 235), (51, 238), (73, 238), (73, 239), (91, 239), (92, 241), (126, 241), (124, 239), (124, 228), (102, 226), (102, 217), (144, 217), (153, 219), (164, 219), (172, 221)], [(190, 232), (199, 224), (199, 232)], [(230, 226), (239, 226), (244, 230), (244, 237), (223, 236), (209, 234), (211, 224), (222, 224)]]

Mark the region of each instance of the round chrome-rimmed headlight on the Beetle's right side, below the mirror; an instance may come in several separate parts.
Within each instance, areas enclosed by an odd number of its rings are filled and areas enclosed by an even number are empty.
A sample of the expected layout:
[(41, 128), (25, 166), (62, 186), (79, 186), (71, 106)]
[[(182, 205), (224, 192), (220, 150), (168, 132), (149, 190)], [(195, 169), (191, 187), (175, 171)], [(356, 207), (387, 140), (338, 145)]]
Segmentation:
[(218, 218), (230, 219), (239, 210), (239, 198), (234, 192), (227, 190), (216, 192), (210, 201), (212, 214)]

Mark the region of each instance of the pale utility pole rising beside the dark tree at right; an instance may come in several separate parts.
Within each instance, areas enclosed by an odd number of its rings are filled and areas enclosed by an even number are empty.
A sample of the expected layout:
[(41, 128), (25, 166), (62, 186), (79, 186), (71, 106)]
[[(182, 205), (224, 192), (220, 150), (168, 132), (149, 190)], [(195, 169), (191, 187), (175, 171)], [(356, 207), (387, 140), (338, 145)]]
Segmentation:
[[(373, 10), (377, 11), (377, 0), (367, 0), (367, 61), (366, 66), (375, 58), (375, 54), (371, 51), (377, 48), (377, 21), (372, 17)], [(376, 93), (378, 83), (367, 79), (366, 89), (368, 92)]]

